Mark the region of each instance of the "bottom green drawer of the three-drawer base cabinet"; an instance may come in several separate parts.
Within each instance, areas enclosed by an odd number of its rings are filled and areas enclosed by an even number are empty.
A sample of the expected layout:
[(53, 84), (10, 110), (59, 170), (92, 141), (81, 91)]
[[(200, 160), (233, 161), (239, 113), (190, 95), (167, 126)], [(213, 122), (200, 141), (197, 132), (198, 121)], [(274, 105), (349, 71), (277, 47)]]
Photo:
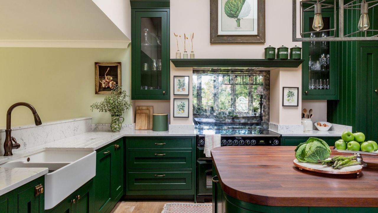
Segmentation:
[(129, 190), (190, 190), (192, 172), (129, 172)]

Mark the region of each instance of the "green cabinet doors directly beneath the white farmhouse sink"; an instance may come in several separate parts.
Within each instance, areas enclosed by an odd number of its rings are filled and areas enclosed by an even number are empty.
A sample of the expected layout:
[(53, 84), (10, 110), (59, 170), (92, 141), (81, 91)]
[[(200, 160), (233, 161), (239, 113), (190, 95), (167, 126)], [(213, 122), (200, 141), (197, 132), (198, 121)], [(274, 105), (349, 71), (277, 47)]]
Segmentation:
[(93, 213), (95, 212), (94, 198), (92, 179), (45, 213)]

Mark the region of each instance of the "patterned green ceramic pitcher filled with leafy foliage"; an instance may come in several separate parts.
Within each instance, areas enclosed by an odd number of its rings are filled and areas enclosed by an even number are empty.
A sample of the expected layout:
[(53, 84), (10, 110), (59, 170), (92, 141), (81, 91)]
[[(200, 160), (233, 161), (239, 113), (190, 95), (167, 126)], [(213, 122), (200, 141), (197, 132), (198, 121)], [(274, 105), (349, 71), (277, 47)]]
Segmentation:
[(112, 130), (112, 132), (119, 132), (122, 128), (122, 123), (124, 122), (122, 114), (131, 107), (128, 97), (126, 91), (122, 90), (121, 86), (116, 85), (110, 93), (110, 96), (105, 97), (101, 102), (93, 103), (91, 105), (91, 110), (109, 112), (112, 117), (110, 130)]

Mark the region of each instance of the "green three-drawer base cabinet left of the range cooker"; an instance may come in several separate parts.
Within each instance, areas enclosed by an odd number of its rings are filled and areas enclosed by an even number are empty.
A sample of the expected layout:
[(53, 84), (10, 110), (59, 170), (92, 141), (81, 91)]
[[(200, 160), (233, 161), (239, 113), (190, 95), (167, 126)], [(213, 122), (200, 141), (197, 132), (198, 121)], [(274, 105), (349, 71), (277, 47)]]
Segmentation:
[(195, 137), (126, 138), (127, 198), (194, 199)]

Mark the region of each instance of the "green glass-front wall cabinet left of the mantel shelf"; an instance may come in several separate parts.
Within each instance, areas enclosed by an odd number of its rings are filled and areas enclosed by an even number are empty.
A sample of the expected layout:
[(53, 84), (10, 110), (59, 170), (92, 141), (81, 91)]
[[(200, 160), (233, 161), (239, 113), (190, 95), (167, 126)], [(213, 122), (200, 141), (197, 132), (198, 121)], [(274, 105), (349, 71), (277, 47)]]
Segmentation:
[(131, 0), (133, 100), (169, 100), (169, 1)]

